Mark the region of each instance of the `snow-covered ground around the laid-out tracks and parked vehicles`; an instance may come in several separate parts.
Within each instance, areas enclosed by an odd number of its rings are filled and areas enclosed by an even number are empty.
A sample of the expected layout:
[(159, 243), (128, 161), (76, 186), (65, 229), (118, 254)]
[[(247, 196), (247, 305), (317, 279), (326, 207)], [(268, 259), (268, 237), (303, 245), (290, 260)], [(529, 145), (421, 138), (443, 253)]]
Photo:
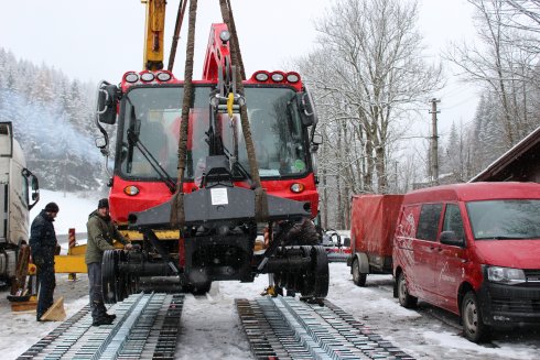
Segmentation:
[[(62, 193), (42, 193), (40, 209), (48, 200), (60, 205), (57, 232), (63, 227), (84, 229), (86, 217), (97, 205), (95, 199), (80, 199)], [(33, 218), (33, 217), (32, 217)], [(65, 231), (67, 232), (67, 230)], [(64, 296), (68, 316), (88, 302), (86, 275), (77, 282), (58, 274), (55, 296)], [(367, 287), (353, 284), (349, 268), (331, 264), (328, 299), (371, 327), (417, 359), (539, 359), (540, 330), (512, 329), (496, 332), (487, 345), (475, 345), (461, 336), (456, 316), (423, 302), (417, 310), (404, 309), (392, 297), (390, 275), (370, 275)], [(255, 298), (267, 286), (267, 276), (253, 283), (217, 282), (207, 296), (186, 295), (181, 320), (176, 359), (252, 359), (235, 308), (235, 298)], [(58, 323), (35, 323), (34, 313), (12, 313), (0, 293), (1, 359), (15, 359), (30, 346), (54, 329)], [(112, 309), (114, 312), (114, 309)]]

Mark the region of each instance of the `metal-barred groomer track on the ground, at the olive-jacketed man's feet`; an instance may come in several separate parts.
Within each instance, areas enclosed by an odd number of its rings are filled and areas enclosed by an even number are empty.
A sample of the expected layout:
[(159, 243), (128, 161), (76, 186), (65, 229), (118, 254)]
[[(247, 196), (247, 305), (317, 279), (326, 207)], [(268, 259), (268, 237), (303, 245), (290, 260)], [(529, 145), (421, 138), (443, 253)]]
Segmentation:
[(131, 295), (115, 306), (115, 323), (99, 327), (86, 306), (18, 359), (174, 359), (183, 302), (184, 295)]

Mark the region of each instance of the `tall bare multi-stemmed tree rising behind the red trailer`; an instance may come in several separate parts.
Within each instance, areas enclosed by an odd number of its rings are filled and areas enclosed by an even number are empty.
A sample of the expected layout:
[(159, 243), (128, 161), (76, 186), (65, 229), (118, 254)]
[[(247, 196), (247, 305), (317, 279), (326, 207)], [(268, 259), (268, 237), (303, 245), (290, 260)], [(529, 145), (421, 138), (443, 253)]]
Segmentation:
[(400, 128), (392, 123), (441, 84), (440, 68), (421, 57), (417, 18), (415, 1), (342, 0), (317, 22), (320, 48), (304, 59), (303, 73), (317, 98), (336, 101), (324, 121), (354, 137), (341, 159), (356, 172), (344, 172), (352, 190), (388, 190), (389, 140)]

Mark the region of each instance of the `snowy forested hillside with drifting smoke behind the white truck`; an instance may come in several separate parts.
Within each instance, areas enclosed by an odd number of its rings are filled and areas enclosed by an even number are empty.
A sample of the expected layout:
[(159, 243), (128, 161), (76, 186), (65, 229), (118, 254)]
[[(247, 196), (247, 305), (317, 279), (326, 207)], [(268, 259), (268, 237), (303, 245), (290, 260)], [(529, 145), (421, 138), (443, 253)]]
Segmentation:
[(95, 146), (95, 91), (94, 84), (18, 59), (0, 47), (0, 121), (13, 123), (13, 135), (42, 188), (104, 190), (107, 175)]

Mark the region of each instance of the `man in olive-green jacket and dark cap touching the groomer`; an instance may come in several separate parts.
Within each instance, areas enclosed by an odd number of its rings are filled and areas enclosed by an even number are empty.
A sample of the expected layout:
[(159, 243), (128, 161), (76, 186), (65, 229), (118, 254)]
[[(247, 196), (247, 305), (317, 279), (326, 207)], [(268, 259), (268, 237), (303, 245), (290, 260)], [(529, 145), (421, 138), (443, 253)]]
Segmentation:
[(85, 262), (88, 268), (91, 318), (94, 326), (109, 325), (116, 315), (107, 314), (101, 291), (101, 260), (105, 250), (115, 250), (112, 240), (120, 241), (126, 250), (131, 250), (131, 242), (118, 231), (109, 215), (109, 200), (100, 199), (97, 210), (93, 211), (86, 223), (88, 242)]

